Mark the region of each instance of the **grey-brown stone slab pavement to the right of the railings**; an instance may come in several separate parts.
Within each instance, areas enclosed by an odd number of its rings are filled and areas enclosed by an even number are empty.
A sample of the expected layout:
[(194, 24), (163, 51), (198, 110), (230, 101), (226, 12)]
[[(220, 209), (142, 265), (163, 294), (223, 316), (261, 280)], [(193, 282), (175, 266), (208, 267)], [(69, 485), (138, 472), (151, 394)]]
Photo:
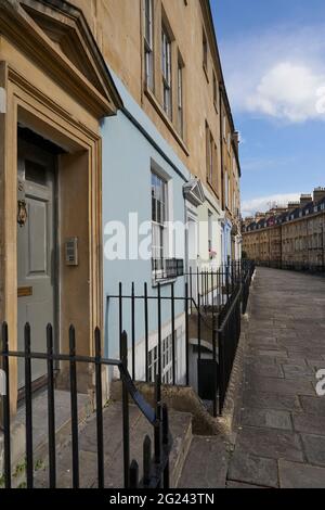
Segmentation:
[(325, 279), (257, 269), (227, 487), (325, 487), (321, 369)]

